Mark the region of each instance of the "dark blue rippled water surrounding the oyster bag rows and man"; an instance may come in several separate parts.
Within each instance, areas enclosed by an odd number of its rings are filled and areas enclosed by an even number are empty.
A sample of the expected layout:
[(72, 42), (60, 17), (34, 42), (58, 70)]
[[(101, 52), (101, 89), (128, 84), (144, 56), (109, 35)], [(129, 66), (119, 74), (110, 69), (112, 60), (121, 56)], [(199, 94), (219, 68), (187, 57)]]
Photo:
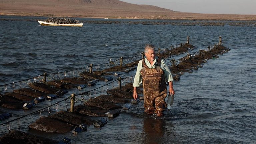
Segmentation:
[[(44, 72), (69, 71), (89, 64), (107, 63), (110, 58), (116, 60), (135, 56), (148, 43), (157, 48), (168, 48), (186, 42), (187, 36), (190, 36), (191, 44), (198, 47), (192, 52), (218, 43), (219, 36), (222, 36), (223, 45), (231, 48), (219, 58), (208, 60), (203, 68), (185, 73), (180, 81), (174, 81), (174, 104), (170, 111), (165, 112), (164, 119), (144, 115), (141, 101), (132, 105), (130, 110), (122, 111), (118, 117), (108, 119), (104, 127), (89, 126), (86, 132), (77, 135), (29, 130), (28, 125), (39, 118), (38, 113), (21, 119), (21, 130), (24, 132), (54, 140), (68, 137), (76, 144), (256, 143), (254, 27), (86, 23), (83, 27), (48, 27), (40, 26), (36, 21), (0, 21), (0, 25), (0, 85), (39, 76)], [(171, 57), (167, 62), (182, 56)], [(131, 71), (121, 76), (134, 74), (135, 71)], [(86, 89), (106, 83), (97, 83)], [(117, 82), (113, 85), (117, 86)], [(110, 84), (103, 91), (111, 87)], [(7, 91), (11, 89), (12, 85), (7, 87)], [(5, 93), (4, 86), (0, 90)], [(81, 91), (72, 89), (62, 98), (39, 103), (28, 111), (1, 107), (2, 111), (13, 113), (13, 117), (3, 122), (54, 104), (77, 92)], [(102, 92), (97, 91), (92, 95), (100, 94)], [(65, 110), (66, 104), (69, 106), (69, 101), (63, 102), (58, 111)], [(50, 115), (56, 111), (52, 106)], [(41, 114), (48, 116), (48, 109)], [(11, 122), (10, 128), (17, 130), (17, 122)], [(1, 136), (8, 132), (6, 125), (1, 125), (0, 130)]]

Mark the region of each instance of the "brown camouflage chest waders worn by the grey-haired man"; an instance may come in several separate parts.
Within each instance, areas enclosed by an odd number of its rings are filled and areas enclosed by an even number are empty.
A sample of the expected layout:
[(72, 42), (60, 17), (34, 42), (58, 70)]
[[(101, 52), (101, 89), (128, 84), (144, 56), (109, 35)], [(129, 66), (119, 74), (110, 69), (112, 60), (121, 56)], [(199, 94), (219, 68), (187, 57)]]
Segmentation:
[[(160, 64), (161, 58), (158, 63)], [(164, 78), (164, 71), (160, 66), (150, 69), (142, 61), (142, 70), (140, 71), (143, 81), (143, 95), (144, 95), (144, 108), (147, 114), (156, 114), (163, 116), (163, 111), (166, 110), (166, 102), (164, 99), (167, 96), (166, 83)]]

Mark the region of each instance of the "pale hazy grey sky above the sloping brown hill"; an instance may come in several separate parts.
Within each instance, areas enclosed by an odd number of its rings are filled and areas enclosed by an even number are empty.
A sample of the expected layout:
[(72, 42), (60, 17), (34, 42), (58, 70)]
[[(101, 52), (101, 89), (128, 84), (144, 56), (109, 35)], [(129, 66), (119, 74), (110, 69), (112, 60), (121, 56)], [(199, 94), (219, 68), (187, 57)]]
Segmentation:
[(214, 14), (256, 14), (256, 0), (120, 0), (181, 12)]

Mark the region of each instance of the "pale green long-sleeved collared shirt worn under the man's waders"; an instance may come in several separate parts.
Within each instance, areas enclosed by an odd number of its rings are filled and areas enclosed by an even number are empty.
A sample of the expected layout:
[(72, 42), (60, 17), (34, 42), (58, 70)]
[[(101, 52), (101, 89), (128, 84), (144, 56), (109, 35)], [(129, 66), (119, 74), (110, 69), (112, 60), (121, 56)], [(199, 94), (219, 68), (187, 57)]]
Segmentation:
[[(151, 66), (150, 62), (147, 60), (147, 58), (145, 58), (145, 63), (148, 66), (148, 68), (155, 68), (155, 62), (156, 62), (156, 59), (154, 60), (153, 66)], [(161, 59), (160, 68), (164, 71), (165, 80), (167, 82), (173, 81), (171, 70), (166, 64), (165, 60), (163, 59)], [(140, 70), (142, 70), (142, 60), (140, 60), (138, 63), (136, 75), (134, 77), (133, 87), (139, 87), (140, 84), (142, 83), (142, 76), (140, 74)]]

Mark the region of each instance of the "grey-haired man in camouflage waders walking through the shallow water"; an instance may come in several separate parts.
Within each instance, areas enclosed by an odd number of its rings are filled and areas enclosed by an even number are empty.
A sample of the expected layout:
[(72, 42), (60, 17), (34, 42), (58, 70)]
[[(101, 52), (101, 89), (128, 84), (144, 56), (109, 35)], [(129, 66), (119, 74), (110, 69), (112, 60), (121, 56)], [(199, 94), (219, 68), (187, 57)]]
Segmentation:
[(167, 97), (166, 81), (169, 83), (170, 94), (175, 94), (173, 89), (173, 77), (164, 59), (156, 59), (155, 46), (147, 44), (145, 46), (146, 58), (138, 63), (136, 75), (133, 82), (133, 98), (136, 100), (138, 94), (137, 87), (143, 82), (144, 108), (145, 113), (163, 116), (166, 110)]

